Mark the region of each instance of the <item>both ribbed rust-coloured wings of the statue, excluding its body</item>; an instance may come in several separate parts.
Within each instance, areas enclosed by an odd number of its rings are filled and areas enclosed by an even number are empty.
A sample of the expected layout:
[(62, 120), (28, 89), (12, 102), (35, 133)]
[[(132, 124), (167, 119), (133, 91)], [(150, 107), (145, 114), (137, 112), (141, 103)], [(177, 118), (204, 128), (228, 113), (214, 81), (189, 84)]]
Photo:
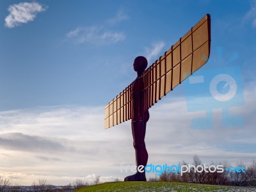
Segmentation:
[[(143, 72), (144, 109), (149, 109), (157, 100), (202, 67), (209, 58), (210, 47), (211, 17), (207, 14)], [(106, 105), (105, 129), (131, 119), (132, 83)]]

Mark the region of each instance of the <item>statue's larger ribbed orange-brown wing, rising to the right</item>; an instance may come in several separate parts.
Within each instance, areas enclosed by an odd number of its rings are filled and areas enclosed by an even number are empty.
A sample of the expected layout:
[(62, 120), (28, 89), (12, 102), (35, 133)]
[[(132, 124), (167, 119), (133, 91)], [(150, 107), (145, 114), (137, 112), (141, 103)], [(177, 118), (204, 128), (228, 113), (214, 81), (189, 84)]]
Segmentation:
[(210, 15), (205, 15), (159, 60), (145, 70), (145, 110), (207, 62), (211, 44), (210, 22)]

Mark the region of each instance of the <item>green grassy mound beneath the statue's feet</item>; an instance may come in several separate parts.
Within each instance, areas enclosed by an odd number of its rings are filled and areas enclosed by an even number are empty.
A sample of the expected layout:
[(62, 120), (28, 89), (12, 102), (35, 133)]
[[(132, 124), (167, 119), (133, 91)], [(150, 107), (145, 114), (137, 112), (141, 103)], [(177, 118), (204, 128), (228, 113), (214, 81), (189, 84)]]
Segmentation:
[(95, 186), (88, 186), (76, 192), (83, 191), (256, 191), (256, 188), (243, 188), (232, 186), (212, 186), (204, 184), (189, 184), (181, 182), (108, 182)]

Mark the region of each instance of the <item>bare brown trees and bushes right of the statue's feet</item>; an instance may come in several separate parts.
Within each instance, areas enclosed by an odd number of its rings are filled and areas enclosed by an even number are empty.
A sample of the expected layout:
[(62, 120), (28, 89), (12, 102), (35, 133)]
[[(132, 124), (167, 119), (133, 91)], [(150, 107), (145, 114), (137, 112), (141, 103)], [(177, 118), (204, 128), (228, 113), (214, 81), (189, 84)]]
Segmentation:
[[(187, 165), (188, 163), (182, 162), (181, 164)], [(218, 163), (223, 164), (224, 169), (230, 167), (231, 165), (228, 163)], [(211, 163), (207, 166), (215, 165), (216, 163)], [(193, 157), (193, 165), (203, 166), (204, 164), (200, 160), (198, 156)], [(190, 182), (190, 183), (198, 183), (198, 184), (213, 184), (213, 185), (227, 185), (227, 186), (256, 186), (256, 161), (253, 161), (252, 164), (246, 165), (243, 163), (237, 164), (237, 166), (244, 167), (245, 173), (234, 172), (234, 171), (225, 171), (222, 173), (217, 172), (195, 172), (195, 169), (192, 167), (190, 172), (183, 173), (182, 176), (180, 173), (173, 172), (164, 172), (157, 177), (150, 178), (149, 180), (161, 180), (161, 181), (169, 181), (169, 182)]]

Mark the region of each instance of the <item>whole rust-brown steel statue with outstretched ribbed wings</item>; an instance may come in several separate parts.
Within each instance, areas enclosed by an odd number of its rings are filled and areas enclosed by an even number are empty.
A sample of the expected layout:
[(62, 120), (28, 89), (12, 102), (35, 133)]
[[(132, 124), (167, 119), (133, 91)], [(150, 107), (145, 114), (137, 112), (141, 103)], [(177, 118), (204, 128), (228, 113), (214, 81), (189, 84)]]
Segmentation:
[[(211, 18), (207, 14), (150, 67), (146, 58), (138, 56), (134, 60), (138, 77), (105, 107), (105, 129), (132, 120), (137, 167), (146, 166), (148, 160), (144, 141), (148, 109), (207, 62), (210, 45)], [(145, 172), (125, 178), (129, 180), (146, 181)]]

